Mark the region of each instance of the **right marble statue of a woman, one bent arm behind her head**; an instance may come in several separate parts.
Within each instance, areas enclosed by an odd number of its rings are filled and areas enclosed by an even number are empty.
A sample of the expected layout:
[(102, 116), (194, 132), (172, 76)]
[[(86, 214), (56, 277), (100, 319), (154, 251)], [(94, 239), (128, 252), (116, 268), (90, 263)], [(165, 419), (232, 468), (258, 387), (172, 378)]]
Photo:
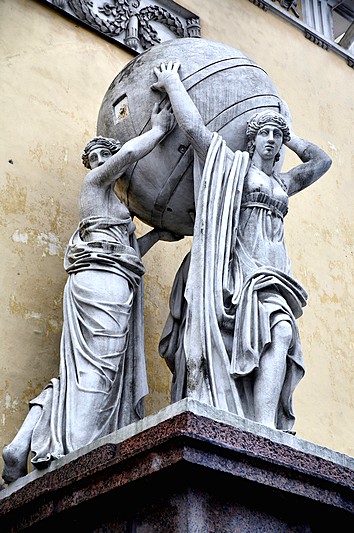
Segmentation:
[[(263, 110), (247, 125), (248, 150), (233, 152), (207, 126), (179, 76), (155, 67), (194, 149), (196, 218), (190, 255), (171, 293), (160, 354), (173, 372), (172, 401), (193, 397), (274, 429), (291, 431), (293, 391), (304, 374), (296, 319), (306, 292), (284, 243), (288, 198), (318, 180), (330, 158)], [(285, 145), (301, 164), (275, 170)]]

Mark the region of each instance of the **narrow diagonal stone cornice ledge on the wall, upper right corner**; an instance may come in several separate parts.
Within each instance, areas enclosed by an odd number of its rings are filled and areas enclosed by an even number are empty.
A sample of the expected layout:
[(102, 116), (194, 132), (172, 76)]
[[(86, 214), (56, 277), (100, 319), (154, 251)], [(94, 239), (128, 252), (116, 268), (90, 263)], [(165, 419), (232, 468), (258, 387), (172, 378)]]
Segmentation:
[(349, 53), (347, 50), (339, 46), (334, 41), (327, 39), (323, 35), (316, 33), (316, 31), (313, 28), (310, 28), (305, 22), (302, 22), (301, 20), (296, 19), (294, 16), (292, 16), (290, 13), (284, 11), (280, 6), (277, 6), (274, 4), (272, 0), (249, 0), (252, 4), (255, 6), (263, 9), (263, 11), (270, 11), (276, 15), (278, 15), (280, 18), (285, 20), (288, 24), (291, 24), (294, 26), (297, 30), (301, 31), (306, 39), (309, 39), (313, 43), (317, 44), (324, 50), (334, 52), (335, 54), (339, 55), (345, 61), (347, 64), (354, 68), (354, 55)]

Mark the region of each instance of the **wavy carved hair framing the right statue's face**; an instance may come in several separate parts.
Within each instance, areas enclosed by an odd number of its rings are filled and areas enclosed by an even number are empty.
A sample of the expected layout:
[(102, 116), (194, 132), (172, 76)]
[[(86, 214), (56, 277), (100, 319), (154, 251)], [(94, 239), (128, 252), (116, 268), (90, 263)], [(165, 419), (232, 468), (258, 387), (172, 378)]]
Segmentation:
[[(284, 142), (290, 141), (289, 126), (283, 115), (271, 110), (256, 113), (247, 123), (246, 129), (246, 136), (248, 140), (247, 150), (251, 157), (255, 152), (257, 135), (267, 128), (267, 126), (271, 127), (271, 129), (278, 133), (278, 135), (279, 132), (281, 133), (281, 144), (279, 150)], [(274, 162), (278, 161), (279, 158), (280, 152), (278, 151), (278, 153), (275, 155)]]

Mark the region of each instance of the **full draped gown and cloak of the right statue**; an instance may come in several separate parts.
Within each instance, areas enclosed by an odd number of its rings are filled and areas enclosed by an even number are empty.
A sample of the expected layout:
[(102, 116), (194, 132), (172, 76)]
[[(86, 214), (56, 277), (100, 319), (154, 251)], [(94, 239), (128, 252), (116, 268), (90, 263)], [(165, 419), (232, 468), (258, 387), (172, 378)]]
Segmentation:
[(248, 153), (232, 154), (215, 133), (204, 167), (197, 156), (195, 162), (193, 246), (177, 273), (160, 342), (174, 372), (172, 400), (194, 397), (254, 419), (253, 373), (272, 328), (285, 320), (292, 341), (276, 427), (290, 430), (292, 394), (304, 373), (295, 319), (307, 296), (291, 277), (284, 244), (287, 196), (245, 194)]

